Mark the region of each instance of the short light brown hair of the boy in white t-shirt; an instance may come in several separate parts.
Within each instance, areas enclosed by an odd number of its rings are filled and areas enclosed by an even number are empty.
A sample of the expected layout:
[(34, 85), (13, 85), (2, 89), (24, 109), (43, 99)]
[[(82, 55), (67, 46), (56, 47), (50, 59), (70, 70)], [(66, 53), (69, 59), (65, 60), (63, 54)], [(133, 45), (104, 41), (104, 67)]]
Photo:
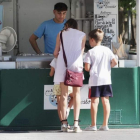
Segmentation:
[(96, 43), (102, 42), (104, 38), (104, 32), (101, 29), (94, 29), (89, 33), (89, 37), (93, 38)]

